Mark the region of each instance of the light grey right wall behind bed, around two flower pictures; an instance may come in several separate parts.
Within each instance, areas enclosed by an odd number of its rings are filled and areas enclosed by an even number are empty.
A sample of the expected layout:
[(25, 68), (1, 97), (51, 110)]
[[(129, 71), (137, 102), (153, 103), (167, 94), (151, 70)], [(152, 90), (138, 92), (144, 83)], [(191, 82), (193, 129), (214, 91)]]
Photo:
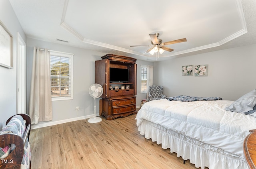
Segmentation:
[[(256, 88), (256, 45), (180, 57), (154, 64), (154, 84), (167, 96), (190, 95), (236, 100)], [(208, 65), (207, 77), (182, 76), (182, 66)]]

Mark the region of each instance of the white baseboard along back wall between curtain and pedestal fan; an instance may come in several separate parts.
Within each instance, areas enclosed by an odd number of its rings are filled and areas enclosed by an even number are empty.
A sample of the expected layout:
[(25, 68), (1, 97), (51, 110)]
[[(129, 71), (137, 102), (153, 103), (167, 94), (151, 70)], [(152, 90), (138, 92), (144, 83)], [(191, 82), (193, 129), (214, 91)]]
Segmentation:
[[(99, 114), (96, 114), (96, 116), (99, 116)], [(94, 117), (94, 114), (87, 115), (87, 116), (80, 116), (80, 117), (77, 117), (77, 118), (59, 120), (59, 121), (56, 121), (56, 122), (48, 122), (48, 123), (44, 123), (44, 124), (32, 124), (31, 125), (31, 130), (36, 129), (36, 128), (42, 128), (42, 127), (48, 127), (48, 126), (53, 126), (53, 125), (57, 125), (57, 124), (67, 123), (67, 122), (74, 122), (74, 121), (77, 121), (77, 120), (84, 120), (84, 119), (91, 118), (91, 117)]]

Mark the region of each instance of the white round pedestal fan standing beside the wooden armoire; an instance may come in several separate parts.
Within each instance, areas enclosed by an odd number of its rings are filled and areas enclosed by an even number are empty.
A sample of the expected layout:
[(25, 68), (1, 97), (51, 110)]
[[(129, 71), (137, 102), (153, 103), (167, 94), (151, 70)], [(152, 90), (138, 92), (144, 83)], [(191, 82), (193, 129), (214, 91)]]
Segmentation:
[(99, 84), (95, 83), (90, 86), (89, 88), (89, 94), (94, 98), (94, 117), (89, 118), (88, 122), (89, 123), (98, 123), (102, 120), (100, 117), (96, 117), (96, 104), (95, 104), (95, 99), (99, 98), (103, 93), (103, 88)]

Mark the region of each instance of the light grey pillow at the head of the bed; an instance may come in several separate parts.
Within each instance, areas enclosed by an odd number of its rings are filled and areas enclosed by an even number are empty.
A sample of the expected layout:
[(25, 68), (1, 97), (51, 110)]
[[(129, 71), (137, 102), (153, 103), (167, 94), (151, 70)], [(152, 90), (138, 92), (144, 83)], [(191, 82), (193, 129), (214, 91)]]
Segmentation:
[(253, 110), (254, 106), (256, 105), (256, 89), (244, 94), (244, 96), (238, 98), (234, 103), (230, 106), (226, 107), (226, 110), (237, 112), (237, 113), (252, 113), (249, 112)]

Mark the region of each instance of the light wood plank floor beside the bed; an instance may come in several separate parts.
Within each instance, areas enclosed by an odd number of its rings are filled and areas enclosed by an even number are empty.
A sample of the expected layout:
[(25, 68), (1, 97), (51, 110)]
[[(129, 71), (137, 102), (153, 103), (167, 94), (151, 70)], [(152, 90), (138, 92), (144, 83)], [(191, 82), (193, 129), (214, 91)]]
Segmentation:
[(91, 124), (78, 120), (31, 130), (32, 169), (195, 169), (145, 139), (136, 115)]

